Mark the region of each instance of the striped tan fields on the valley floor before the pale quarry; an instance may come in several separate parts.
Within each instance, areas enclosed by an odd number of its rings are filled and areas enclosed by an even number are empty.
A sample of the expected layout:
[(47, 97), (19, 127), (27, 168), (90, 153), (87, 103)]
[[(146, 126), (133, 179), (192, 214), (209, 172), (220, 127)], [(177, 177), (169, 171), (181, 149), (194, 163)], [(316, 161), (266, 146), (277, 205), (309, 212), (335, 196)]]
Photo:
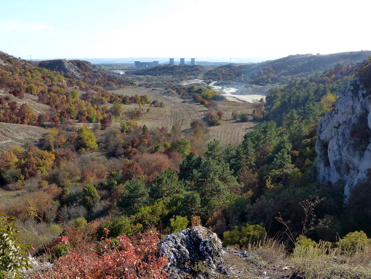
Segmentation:
[[(190, 127), (190, 122), (195, 119), (202, 119), (208, 108), (192, 100), (184, 100), (178, 96), (161, 95), (145, 87), (127, 86), (119, 90), (111, 91), (116, 94), (134, 96), (148, 95), (151, 100), (157, 100), (165, 104), (164, 108), (144, 107), (144, 112), (149, 108), (149, 112), (143, 113), (142, 119), (138, 120), (139, 125), (147, 127), (166, 126), (169, 129), (174, 124), (179, 124), (182, 130)], [(257, 122), (238, 122), (231, 119), (232, 112), (252, 113), (256, 104), (236, 103), (236, 102), (217, 102), (220, 109), (225, 113), (225, 120), (219, 126), (209, 127), (210, 139), (218, 139), (222, 144), (239, 144), (243, 136), (252, 129)], [(124, 105), (124, 111), (138, 108), (138, 105)]]

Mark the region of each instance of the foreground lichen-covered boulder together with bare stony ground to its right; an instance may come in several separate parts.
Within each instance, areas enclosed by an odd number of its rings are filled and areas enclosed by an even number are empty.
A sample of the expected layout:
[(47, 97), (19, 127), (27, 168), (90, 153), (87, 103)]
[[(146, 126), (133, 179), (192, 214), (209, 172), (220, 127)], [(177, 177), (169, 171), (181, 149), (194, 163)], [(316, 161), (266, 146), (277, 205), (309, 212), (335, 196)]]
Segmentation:
[(218, 236), (202, 226), (166, 236), (160, 254), (169, 259), (171, 279), (299, 279), (284, 261), (269, 264), (257, 254), (223, 248)]

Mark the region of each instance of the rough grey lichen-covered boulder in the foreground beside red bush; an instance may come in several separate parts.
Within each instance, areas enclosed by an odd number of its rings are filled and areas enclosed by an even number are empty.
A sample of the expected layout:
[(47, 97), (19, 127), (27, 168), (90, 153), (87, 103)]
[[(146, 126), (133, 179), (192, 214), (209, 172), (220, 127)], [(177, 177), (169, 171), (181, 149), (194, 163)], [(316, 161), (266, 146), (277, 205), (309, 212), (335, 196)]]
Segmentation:
[(169, 278), (208, 278), (227, 274), (223, 267), (223, 246), (218, 236), (203, 226), (172, 233), (160, 242), (160, 254), (169, 259)]

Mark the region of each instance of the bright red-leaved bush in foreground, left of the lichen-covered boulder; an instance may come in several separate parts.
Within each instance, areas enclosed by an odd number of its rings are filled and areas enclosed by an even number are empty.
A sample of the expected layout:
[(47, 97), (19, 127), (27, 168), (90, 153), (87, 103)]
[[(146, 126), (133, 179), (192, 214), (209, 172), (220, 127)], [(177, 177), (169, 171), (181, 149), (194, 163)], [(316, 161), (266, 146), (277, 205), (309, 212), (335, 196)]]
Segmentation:
[(101, 253), (93, 250), (72, 250), (54, 261), (53, 269), (40, 278), (96, 278), (96, 279), (165, 279), (168, 259), (159, 257), (156, 232), (149, 231), (140, 237), (120, 235), (118, 244), (103, 240)]

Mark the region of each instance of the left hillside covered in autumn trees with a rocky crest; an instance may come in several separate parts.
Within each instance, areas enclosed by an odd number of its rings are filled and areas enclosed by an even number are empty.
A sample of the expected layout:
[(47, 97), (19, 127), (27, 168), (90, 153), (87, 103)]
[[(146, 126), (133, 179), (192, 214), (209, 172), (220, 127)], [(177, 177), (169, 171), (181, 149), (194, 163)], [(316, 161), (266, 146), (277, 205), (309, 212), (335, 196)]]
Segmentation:
[(97, 123), (111, 114), (111, 104), (150, 101), (144, 96), (143, 100), (129, 99), (107, 92), (133, 83), (101, 72), (86, 61), (50, 60), (36, 65), (39, 67), (0, 54), (1, 122), (37, 126), (51, 122)]

